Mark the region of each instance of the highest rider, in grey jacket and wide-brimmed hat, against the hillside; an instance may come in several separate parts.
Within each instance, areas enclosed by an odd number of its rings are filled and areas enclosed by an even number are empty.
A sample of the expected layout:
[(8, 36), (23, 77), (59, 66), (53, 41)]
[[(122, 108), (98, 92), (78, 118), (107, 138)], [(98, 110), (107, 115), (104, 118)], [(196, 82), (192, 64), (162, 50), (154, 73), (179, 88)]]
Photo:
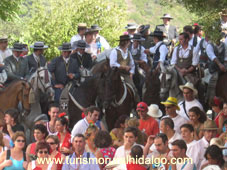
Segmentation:
[(160, 19), (163, 20), (163, 24), (157, 25), (155, 31), (162, 31), (166, 37), (164, 38), (164, 43), (167, 46), (170, 46), (173, 43), (176, 43), (178, 39), (177, 28), (173, 25), (170, 25), (171, 17), (169, 14), (164, 14)]

